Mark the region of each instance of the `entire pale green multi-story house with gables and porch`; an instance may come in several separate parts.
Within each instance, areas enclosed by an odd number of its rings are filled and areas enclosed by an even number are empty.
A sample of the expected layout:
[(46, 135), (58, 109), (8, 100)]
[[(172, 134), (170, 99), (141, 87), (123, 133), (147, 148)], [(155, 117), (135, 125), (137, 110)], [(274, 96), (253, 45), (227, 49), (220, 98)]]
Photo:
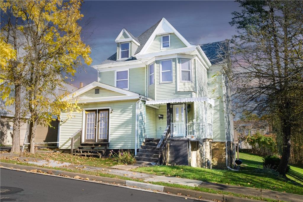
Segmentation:
[(98, 82), (66, 97), (82, 111), (61, 113), (60, 149), (73, 140), (75, 154), (131, 149), (138, 163), (195, 167), (211, 167), (212, 149), (216, 163), (234, 159), (227, 41), (190, 44), (163, 18), (138, 37), (123, 28), (115, 42), (117, 52), (93, 66)]

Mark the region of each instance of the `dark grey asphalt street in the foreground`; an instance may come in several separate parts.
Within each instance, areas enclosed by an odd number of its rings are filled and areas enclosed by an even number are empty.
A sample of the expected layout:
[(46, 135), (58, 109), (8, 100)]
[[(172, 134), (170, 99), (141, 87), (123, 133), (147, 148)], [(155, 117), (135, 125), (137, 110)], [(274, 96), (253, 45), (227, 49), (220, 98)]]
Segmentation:
[(1, 201), (201, 201), (3, 168), (0, 174)]

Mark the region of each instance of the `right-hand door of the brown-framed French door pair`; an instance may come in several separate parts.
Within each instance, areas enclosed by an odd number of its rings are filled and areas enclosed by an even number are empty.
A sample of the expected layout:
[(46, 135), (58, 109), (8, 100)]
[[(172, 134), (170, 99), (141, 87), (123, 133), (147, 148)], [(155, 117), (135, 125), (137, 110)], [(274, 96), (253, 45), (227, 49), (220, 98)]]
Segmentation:
[(97, 142), (108, 142), (108, 109), (98, 110), (99, 127)]

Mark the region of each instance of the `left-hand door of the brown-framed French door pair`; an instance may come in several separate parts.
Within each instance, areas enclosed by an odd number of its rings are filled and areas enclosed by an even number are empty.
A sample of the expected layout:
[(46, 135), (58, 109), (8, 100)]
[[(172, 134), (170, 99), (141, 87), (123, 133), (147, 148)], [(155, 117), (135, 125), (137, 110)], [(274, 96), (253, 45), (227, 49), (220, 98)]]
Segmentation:
[(85, 127), (85, 142), (95, 142), (96, 110), (86, 111)]

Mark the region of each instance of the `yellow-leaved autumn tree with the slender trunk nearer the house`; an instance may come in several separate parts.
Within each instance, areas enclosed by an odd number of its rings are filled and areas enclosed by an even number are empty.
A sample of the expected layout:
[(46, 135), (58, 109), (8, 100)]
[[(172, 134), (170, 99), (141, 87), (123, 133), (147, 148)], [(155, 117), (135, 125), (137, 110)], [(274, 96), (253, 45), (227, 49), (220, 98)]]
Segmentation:
[[(17, 58), (20, 58), (18, 63), (23, 68), (21, 85), (27, 93), (27, 109), (31, 114), (29, 134), (31, 153), (35, 152), (34, 138), (38, 124), (48, 125), (53, 120), (52, 115), (60, 116), (61, 110), (77, 108), (76, 105), (63, 101), (62, 97), (65, 95), (55, 92), (55, 89), (64, 89), (65, 80), (74, 76), (77, 68), (81, 66), (82, 59), (88, 65), (92, 62), (89, 56), (91, 49), (80, 37), (82, 28), (78, 22), (83, 18), (80, 13), (81, 3), (81, 1), (1, 3), (6, 20), (3, 33), (14, 39), (16, 36), (13, 32), (18, 32), (18, 38), (22, 39), (22, 43), (13, 44), (15, 50), (22, 49), (19, 55), (17, 51)], [(13, 66), (13, 62), (10, 62), (9, 66)], [(16, 69), (20, 69), (18, 65)], [(7, 75), (13, 73), (9, 69), (6, 72)], [(15, 85), (16, 103), (19, 92), (15, 81), (7, 80)], [(17, 114), (19, 113), (17, 107), (16, 103), (15, 117), (20, 116)]]

